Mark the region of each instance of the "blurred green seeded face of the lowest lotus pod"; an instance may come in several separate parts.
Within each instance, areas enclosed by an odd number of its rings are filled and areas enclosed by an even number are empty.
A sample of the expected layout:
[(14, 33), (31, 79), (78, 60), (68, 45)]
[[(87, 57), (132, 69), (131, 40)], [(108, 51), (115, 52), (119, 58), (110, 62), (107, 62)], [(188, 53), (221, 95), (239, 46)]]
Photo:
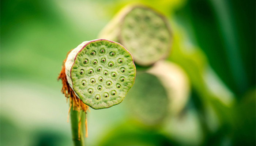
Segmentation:
[(144, 124), (158, 124), (167, 115), (169, 99), (161, 82), (152, 74), (136, 74), (127, 101), (129, 111)]

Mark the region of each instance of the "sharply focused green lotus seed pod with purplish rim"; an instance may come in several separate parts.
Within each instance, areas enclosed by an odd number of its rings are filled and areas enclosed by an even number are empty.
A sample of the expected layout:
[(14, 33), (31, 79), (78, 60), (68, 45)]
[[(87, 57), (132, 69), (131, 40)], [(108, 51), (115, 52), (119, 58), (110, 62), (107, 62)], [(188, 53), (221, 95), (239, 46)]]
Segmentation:
[[(65, 67), (75, 95), (94, 109), (121, 103), (136, 74), (131, 54), (121, 44), (106, 39), (80, 44), (69, 53)], [(125, 72), (120, 72), (121, 68)]]

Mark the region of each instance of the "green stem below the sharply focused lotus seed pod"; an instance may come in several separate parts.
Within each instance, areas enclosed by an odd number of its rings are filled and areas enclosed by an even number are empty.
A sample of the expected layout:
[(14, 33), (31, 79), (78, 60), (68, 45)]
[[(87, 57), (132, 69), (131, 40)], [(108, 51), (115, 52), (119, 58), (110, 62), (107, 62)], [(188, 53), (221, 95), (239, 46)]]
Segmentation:
[(74, 141), (74, 146), (84, 146), (84, 137), (83, 137), (83, 124), (80, 123), (80, 137), (78, 135), (78, 123), (79, 119), (82, 121), (82, 117), (79, 118), (80, 112), (73, 110), (73, 106), (70, 110), (70, 119), (71, 119), (71, 130), (72, 130), (72, 139)]

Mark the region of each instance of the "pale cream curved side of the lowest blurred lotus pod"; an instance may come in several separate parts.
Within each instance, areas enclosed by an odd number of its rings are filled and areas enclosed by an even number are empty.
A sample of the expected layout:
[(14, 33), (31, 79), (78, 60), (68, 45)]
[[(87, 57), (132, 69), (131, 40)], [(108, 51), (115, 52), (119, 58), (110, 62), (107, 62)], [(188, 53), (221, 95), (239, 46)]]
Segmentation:
[(158, 61), (147, 72), (155, 75), (165, 87), (170, 100), (170, 113), (179, 114), (187, 104), (190, 91), (189, 80), (184, 70), (172, 62)]

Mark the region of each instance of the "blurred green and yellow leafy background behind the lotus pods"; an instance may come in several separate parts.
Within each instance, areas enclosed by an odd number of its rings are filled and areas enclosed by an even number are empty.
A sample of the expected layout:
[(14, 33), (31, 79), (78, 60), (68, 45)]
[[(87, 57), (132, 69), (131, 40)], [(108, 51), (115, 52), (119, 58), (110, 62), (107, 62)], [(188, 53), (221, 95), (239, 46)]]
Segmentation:
[(169, 20), (187, 102), (154, 125), (127, 99), (90, 109), (86, 145), (255, 145), (255, 1), (1, 0), (1, 146), (72, 145), (62, 61), (133, 2)]

